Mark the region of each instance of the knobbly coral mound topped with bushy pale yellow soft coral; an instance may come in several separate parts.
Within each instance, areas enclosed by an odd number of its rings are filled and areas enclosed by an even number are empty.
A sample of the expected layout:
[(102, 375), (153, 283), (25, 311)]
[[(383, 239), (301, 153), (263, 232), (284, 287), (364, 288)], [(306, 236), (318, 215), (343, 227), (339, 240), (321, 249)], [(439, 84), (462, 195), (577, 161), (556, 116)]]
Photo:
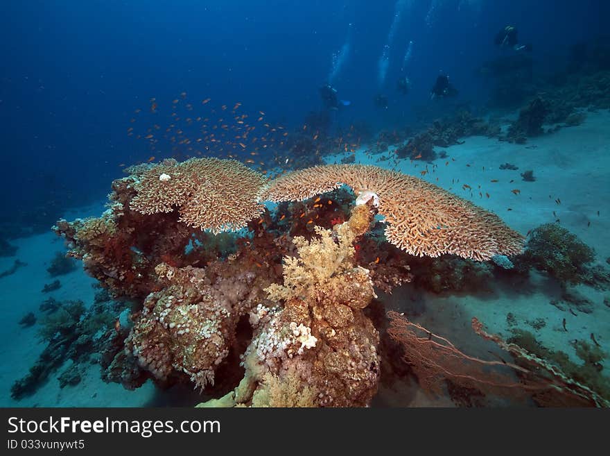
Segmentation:
[[(267, 288), (272, 307), (250, 314), (254, 339), (245, 377), (223, 402), (254, 406), (365, 406), (376, 393), (379, 337), (363, 309), (375, 297), (353, 243), (369, 229), (368, 205), (319, 237), (294, 239), (284, 283)], [(281, 305), (283, 303), (283, 307)]]

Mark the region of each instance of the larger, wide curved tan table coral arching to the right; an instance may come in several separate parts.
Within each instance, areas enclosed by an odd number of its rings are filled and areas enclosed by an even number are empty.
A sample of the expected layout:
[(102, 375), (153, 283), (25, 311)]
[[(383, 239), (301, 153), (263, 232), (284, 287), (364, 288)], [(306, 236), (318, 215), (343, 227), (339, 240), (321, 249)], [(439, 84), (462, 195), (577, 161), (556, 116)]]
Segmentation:
[(363, 164), (335, 164), (295, 171), (272, 181), (271, 201), (300, 201), (349, 185), (373, 199), (385, 217), (385, 237), (404, 251), (473, 260), (521, 252), (523, 236), (491, 212), (414, 176)]

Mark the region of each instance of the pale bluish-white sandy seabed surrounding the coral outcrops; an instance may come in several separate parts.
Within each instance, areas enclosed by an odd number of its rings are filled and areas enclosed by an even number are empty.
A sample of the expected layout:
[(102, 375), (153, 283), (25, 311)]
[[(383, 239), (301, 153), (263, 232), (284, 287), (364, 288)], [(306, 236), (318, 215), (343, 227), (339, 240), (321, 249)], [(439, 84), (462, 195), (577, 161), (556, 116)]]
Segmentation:
[[(581, 126), (564, 128), (557, 133), (528, 140), (527, 144), (509, 144), (486, 137), (468, 137), (464, 144), (446, 149), (447, 159), (437, 159), (431, 164), (421, 161), (399, 160), (400, 171), (420, 176), (428, 169), (424, 178), (444, 187), (459, 196), (471, 199), (487, 210), (496, 212), (509, 226), (525, 234), (542, 223), (555, 221), (555, 211), (561, 225), (578, 235), (586, 244), (593, 246), (598, 260), (603, 262), (610, 256), (610, 115), (608, 112), (588, 113)], [(442, 148), (437, 148), (437, 151)], [(345, 155), (330, 157), (328, 162), (339, 161)], [(376, 162), (381, 155), (367, 156), (360, 150), (356, 162), (392, 167), (393, 160)], [(455, 161), (453, 161), (454, 159)], [(445, 162), (448, 164), (445, 165)], [(510, 162), (518, 171), (498, 169), (500, 164)], [(467, 166), (467, 165), (470, 166)], [(485, 167), (485, 169), (484, 169)], [(521, 180), (521, 172), (532, 169), (535, 182)], [(491, 183), (497, 179), (498, 183)], [(453, 183), (452, 183), (453, 180)], [(459, 180), (459, 182), (458, 182)], [(510, 182), (514, 180), (514, 182)], [(471, 191), (462, 188), (470, 185)], [(480, 188), (479, 188), (480, 185)], [(512, 189), (519, 189), (515, 195)], [(479, 194), (482, 194), (482, 196)], [(485, 196), (489, 193), (489, 198)], [(561, 204), (555, 199), (561, 199)], [(511, 208), (511, 211), (507, 209)], [(597, 215), (597, 211), (600, 215)], [(71, 220), (76, 217), (97, 216), (103, 206), (93, 205), (66, 214)], [(591, 226), (587, 223), (591, 221)], [(53, 296), (59, 300), (81, 299), (86, 305), (93, 302), (94, 280), (83, 271), (60, 276), (62, 288), (50, 294), (41, 292), (45, 283), (51, 282), (46, 267), (62, 250), (62, 241), (52, 233), (12, 241), (19, 247), (17, 258), (28, 263), (12, 276), (0, 279), (0, 307), (4, 330), (0, 332), (0, 405), (3, 406), (141, 406), (155, 396), (153, 385), (148, 382), (137, 391), (127, 391), (120, 385), (106, 384), (100, 379), (99, 366), (92, 365), (82, 382), (76, 387), (59, 388), (57, 377), (67, 367), (62, 366), (51, 375), (49, 381), (33, 396), (15, 401), (10, 398), (10, 386), (25, 375), (29, 367), (42, 352), (44, 345), (37, 341), (37, 325), (22, 329), (17, 322), (26, 312), (40, 316), (38, 306)], [(12, 266), (15, 257), (0, 258), (0, 271)], [(491, 332), (505, 337), (510, 335), (506, 321), (512, 312), (519, 327), (531, 330), (548, 348), (565, 351), (578, 361), (569, 342), (573, 339), (589, 341), (591, 332), (610, 352), (610, 308), (603, 305), (603, 294), (585, 287), (584, 292), (595, 303), (591, 314), (562, 312), (549, 304), (559, 296), (557, 285), (543, 275), (532, 274), (532, 283), (527, 289), (516, 289), (511, 284), (497, 284), (494, 292), (473, 295), (435, 296), (415, 292), (406, 285), (397, 289), (388, 300), (388, 307), (409, 310), (412, 306), (426, 310), (421, 319), (424, 325), (460, 342), (464, 350), (480, 351), (478, 337), (472, 335), (470, 319), (477, 316)], [(544, 319), (546, 326), (536, 331), (526, 320)], [(568, 332), (561, 328), (566, 319)], [(395, 405), (450, 405), (446, 399), (430, 400), (417, 391), (406, 389), (405, 394), (385, 398), (380, 403)], [(395, 402), (392, 402), (394, 401)]]

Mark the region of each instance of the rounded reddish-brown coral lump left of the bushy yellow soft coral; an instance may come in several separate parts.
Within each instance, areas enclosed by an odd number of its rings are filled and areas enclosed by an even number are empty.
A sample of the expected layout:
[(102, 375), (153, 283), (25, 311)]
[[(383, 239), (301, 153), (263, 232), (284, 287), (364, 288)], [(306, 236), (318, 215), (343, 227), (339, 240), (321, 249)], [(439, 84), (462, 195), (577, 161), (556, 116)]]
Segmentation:
[(231, 263), (216, 273), (164, 263), (155, 268), (164, 288), (149, 294), (143, 310), (132, 316), (125, 346), (157, 380), (186, 374), (201, 389), (214, 385), (214, 371), (232, 348), (239, 319), (263, 301), (270, 285), (255, 271), (228, 271)]

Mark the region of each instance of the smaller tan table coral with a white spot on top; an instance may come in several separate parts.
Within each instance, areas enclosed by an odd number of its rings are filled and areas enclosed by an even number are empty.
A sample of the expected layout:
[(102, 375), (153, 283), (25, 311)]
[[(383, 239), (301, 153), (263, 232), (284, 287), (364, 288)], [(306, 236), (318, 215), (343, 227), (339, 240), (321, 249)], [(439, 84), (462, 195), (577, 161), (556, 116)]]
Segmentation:
[(213, 233), (238, 230), (263, 212), (257, 195), (265, 178), (236, 160), (164, 160), (139, 170), (130, 208), (141, 214), (172, 212), (180, 221)]

